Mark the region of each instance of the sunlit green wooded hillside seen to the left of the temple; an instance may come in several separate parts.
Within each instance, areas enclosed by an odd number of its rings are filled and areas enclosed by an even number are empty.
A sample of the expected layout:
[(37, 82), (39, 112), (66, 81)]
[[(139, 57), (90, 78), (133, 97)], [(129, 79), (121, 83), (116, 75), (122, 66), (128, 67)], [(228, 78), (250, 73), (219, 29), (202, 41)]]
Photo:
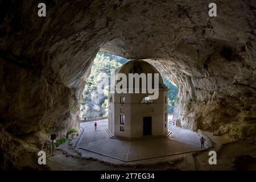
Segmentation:
[(103, 52), (98, 53), (94, 59), (92, 70), (86, 79), (84, 93), (82, 94), (80, 115), (82, 118), (85, 116), (101, 117), (108, 113), (107, 87), (110, 80), (106, 78), (110, 77), (110, 72), (115, 72), (122, 66), (117, 59), (126, 60)]

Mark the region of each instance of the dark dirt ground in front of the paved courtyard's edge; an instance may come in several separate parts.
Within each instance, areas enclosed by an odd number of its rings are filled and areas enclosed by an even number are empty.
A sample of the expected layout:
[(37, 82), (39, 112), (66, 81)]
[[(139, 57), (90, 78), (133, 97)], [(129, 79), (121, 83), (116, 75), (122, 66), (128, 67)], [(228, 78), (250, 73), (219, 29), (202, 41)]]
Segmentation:
[[(82, 159), (80, 156), (69, 156), (60, 150), (55, 156), (47, 160), (51, 170), (256, 170), (256, 145), (250, 140), (226, 143), (222, 137), (213, 136), (205, 132), (214, 143), (214, 147), (196, 154), (185, 154), (183, 159), (174, 163), (163, 162), (158, 164), (137, 166), (118, 166), (98, 162), (93, 159)], [(217, 152), (217, 165), (208, 163), (208, 152)]]

